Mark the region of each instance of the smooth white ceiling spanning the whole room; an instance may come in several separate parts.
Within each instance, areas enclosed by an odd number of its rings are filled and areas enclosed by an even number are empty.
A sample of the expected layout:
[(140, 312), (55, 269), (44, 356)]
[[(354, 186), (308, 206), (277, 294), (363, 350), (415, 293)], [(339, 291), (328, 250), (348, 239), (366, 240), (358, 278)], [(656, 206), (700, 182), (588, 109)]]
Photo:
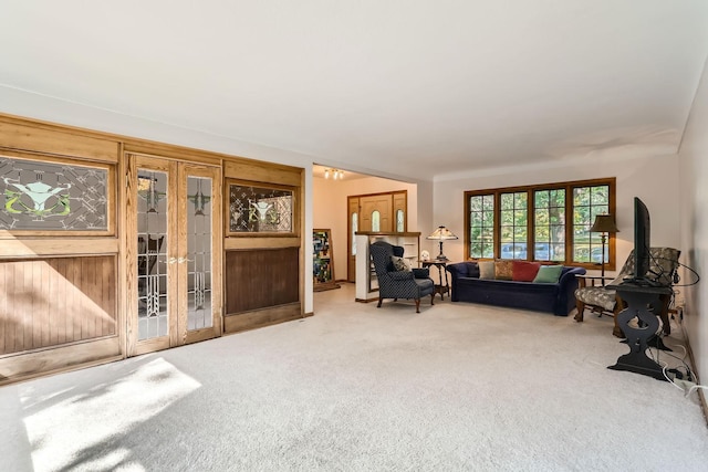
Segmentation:
[(705, 0), (2, 0), (0, 13), (0, 87), (425, 179), (676, 153), (708, 53)]

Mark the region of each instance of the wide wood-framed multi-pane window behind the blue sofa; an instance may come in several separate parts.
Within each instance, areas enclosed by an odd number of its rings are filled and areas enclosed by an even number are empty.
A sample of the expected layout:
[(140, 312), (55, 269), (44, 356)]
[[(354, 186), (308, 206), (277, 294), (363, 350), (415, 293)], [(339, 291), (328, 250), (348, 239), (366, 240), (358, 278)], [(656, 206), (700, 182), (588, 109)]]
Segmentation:
[[(465, 192), (466, 256), (593, 266), (602, 261), (595, 216), (615, 208), (615, 179)], [(570, 217), (570, 219), (569, 219)], [(614, 235), (605, 262), (614, 270)]]

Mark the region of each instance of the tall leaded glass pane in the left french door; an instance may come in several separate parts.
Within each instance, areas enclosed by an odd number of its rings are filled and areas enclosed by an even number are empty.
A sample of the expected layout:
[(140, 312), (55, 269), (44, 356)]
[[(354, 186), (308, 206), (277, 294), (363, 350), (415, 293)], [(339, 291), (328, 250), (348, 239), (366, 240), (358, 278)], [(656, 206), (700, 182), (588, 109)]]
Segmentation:
[(137, 316), (138, 339), (166, 336), (167, 316), (167, 174), (137, 174)]

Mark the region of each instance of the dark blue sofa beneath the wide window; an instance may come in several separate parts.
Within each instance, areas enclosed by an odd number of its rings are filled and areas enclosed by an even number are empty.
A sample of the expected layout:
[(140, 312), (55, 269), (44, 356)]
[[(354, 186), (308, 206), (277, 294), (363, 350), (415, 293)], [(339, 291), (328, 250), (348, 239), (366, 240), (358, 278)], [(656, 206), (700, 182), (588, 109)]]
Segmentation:
[(583, 268), (564, 266), (558, 283), (516, 282), (479, 279), (476, 262), (447, 265), (451, 274), (452, 302), (485, 303), (512, 308), (533, 310), (568, 316), (575, 307), (575, 275), (585, 274)]

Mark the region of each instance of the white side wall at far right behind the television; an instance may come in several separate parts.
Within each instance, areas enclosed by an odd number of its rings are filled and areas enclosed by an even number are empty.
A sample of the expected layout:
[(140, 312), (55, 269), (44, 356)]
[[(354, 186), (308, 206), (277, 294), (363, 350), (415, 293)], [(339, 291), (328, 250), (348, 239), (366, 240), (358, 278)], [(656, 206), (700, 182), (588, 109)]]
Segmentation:
[[(696, 286), (681, 289), (686, 300), (684, 326), (696, 359), (699, 378), (708, 381), (708, 73), (704, 75), (694, 98), (686, 133), (679, 151), (679, 192), (681, 248), (684, 263), (704, 280)], [(684, 271), (684, 282), (691, 276)]]

